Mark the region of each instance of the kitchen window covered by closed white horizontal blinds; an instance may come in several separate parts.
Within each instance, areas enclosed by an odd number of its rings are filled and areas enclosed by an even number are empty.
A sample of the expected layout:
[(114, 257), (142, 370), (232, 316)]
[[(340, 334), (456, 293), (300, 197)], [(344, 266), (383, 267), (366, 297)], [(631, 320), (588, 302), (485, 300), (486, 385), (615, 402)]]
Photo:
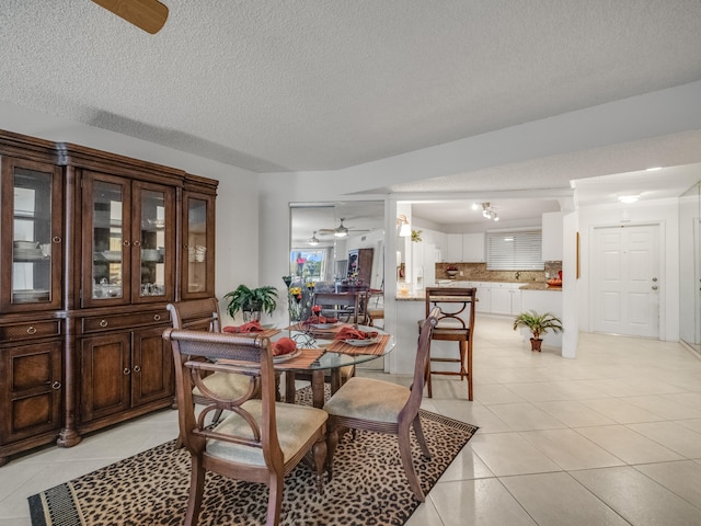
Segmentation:
[(542, 271), (540, 229), (486, 232), (489, 271)]

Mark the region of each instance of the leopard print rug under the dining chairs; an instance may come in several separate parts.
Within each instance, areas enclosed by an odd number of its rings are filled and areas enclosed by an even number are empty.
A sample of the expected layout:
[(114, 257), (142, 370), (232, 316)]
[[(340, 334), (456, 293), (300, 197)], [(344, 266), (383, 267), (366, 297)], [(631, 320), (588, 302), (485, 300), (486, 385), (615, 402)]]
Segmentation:
[[(427, 493), (476, 431), (427, 411), (422, 426), (432, 453), (415, 439), (414, 466)], [(162, 444), (30, 498), (33, 526), (181, 525), (187, 505), (189, 455)], [(317, 492), (301, 462), (286, 479), (280, 525), (402, 525), (418, 502), (406, 481), (397, 437), (346, 434), (334, 456), (334, 477)], [(265, 524), (267, 487), (207, 473), (200, 526)]]

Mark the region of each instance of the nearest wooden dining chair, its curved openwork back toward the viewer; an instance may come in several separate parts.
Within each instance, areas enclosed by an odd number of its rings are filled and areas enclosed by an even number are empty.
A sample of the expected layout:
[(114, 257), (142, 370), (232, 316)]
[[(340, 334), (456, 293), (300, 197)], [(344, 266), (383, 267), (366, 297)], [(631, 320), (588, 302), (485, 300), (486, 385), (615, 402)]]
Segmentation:
[[(268, 526), (279, 523), (285, 477), (308, 453), (318, 491), (323, 493), (327, 414), (321, 409), (275, 401), (269, 339), (176, 329), (166, 329), (163, 338), (171, 342), (174, 363), (179, 364), (179, 424), (192, 460), (186, 526), (197, 524), (207, 471), (267, 484)], [(235, 397), (220, 396), (207, 388), (208, 373), (239, 376), (248, 389)], [(195, 389), (207, 399), (198, 414)], [(218, 410), (227, 410), (227, 416), (216, 425), (206, 423), (207, 414)], [(229, 498), (237, 495), (231, 493)]]

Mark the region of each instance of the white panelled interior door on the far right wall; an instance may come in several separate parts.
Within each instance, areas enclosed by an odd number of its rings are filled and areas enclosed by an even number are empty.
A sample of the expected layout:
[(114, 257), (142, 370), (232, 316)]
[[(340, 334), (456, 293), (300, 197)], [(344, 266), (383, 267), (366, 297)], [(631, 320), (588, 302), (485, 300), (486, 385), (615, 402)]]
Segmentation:
[(594, 331), (659, 338), (659, 226), (595, 228), (591, 255)]

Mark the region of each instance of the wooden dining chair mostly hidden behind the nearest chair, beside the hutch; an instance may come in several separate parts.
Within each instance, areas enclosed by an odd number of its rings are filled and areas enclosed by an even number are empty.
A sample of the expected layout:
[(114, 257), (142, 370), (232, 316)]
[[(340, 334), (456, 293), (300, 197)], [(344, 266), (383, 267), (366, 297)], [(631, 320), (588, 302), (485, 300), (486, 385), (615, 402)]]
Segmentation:
[[(168, 310), (171, 313), (173, 329), (221, 332), (221, 313), (217, 298), (169, 304)], [(249, 388), (246, 378), (239, 375), (219, 375), (217, 373), (208, 375), (204, 379), (204, 384), (207, 389), (223, 398), (237, 398)], [(206, 403), (207, 399), (199, 392), (199, 388), (195, 387), (194, 389), (193, 401), (195, 403)], [(215, 422), (219, 421), (221, 411), (216, 411), (212, 418)], [(177, 446), (180, 445), (181, 441), (177, 443)]]

